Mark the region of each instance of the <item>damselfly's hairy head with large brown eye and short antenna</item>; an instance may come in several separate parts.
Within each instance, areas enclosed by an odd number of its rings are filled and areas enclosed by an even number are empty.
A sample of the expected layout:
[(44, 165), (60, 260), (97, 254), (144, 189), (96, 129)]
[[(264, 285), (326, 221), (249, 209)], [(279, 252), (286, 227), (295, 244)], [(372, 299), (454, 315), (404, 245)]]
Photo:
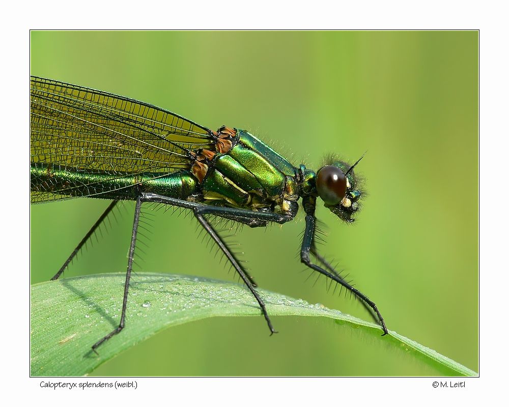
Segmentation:
[(334, 161), (324, 165), (317, 172), (316, 189), (324, 206), (345, 222), (353, 222), (353, 215), (360, 209), (359, 200), (363, 193), (355, 176), (353, 165), (344, 161)]

